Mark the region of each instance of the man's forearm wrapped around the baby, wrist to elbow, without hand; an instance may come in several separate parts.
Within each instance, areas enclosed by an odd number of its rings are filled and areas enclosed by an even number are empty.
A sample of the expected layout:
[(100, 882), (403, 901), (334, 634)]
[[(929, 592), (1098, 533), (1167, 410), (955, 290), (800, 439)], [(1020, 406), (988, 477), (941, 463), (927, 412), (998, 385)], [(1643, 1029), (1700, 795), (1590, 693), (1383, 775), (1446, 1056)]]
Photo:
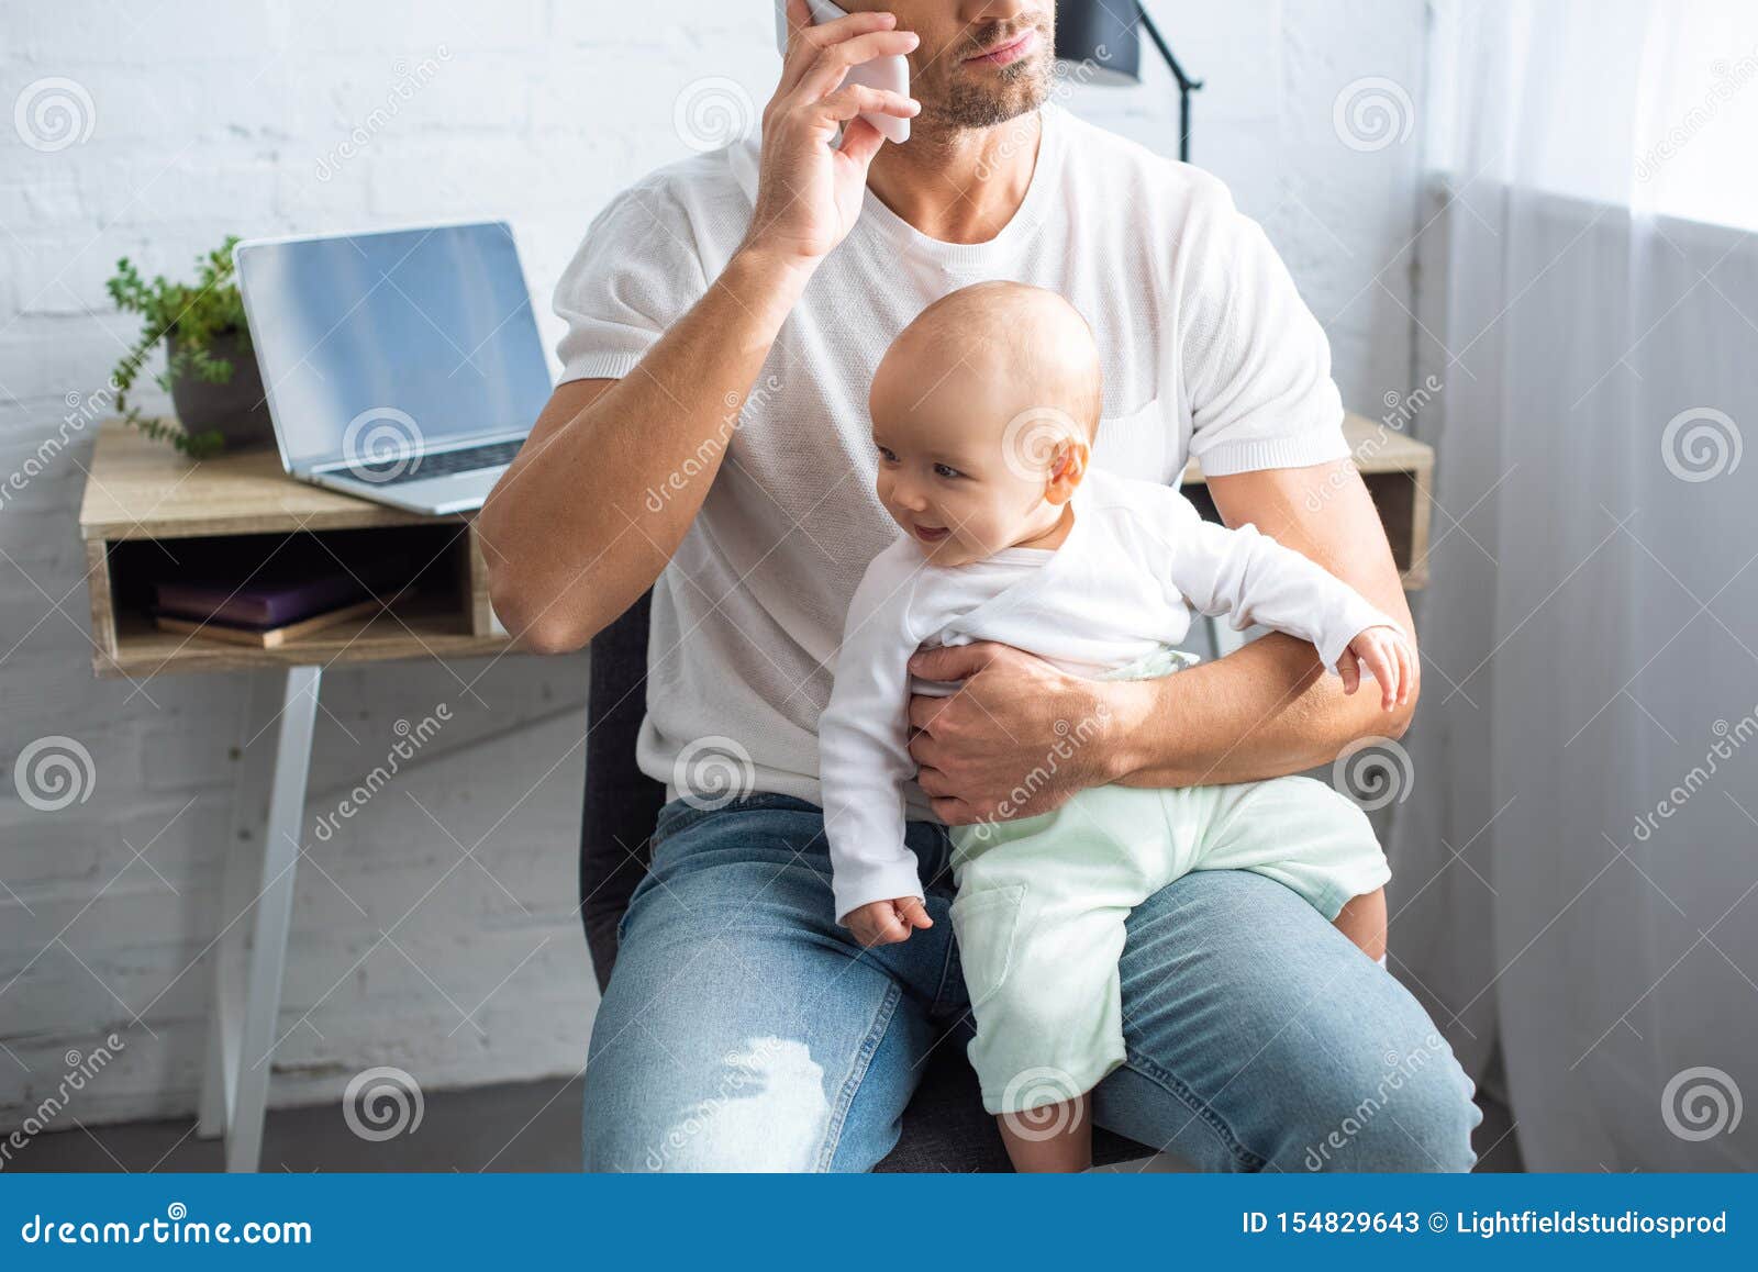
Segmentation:
[(1222, 785), (1303, 773), (1368, 733), (1398, 736), (1410, 720), (1408, 708), (1378, 712), (1373, 694), (1345, 696), (1313, 647), (1285, 632), (1160, 680), (1104, 689), (1118, 722), (1109, 731), (1111, 780), (1122, 785)]

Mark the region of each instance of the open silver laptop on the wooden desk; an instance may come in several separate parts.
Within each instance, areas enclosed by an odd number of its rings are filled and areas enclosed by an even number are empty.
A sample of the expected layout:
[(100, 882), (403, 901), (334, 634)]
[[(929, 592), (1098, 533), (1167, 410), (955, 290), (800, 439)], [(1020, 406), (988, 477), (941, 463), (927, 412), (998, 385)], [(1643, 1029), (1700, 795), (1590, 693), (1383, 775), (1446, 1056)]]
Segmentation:
[(288, 476), (480, 508), (552, 388), (512, 227), (248, 239), (232, 258)]

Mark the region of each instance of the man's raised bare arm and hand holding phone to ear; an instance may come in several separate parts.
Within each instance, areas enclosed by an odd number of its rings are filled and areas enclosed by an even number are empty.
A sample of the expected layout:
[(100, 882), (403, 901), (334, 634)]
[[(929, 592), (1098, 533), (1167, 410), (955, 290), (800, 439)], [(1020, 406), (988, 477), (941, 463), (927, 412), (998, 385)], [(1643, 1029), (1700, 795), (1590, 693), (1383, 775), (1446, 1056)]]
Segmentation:
[(900, 93), (842, 83), (849, 67), (916, 47), (914, 32), (893, 30), (893, 14), (807, 26), (805, 0), (788, 0), (788, 21), (745, 241), (687, 313), (666, 314), (629, 374), (552, 394), (478, 513), (489, 599), (526, 648), (580, 648), (665, 569), (782, 322), (860, 214), (884, 139), (856, 116), (919, 109)]

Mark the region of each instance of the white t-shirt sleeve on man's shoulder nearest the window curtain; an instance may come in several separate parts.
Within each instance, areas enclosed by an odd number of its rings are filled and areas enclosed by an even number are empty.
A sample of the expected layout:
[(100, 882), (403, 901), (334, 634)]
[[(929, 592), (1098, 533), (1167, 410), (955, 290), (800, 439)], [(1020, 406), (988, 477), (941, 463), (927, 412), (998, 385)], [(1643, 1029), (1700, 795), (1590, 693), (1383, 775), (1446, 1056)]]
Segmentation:
[(1331, 343), (1262, 227), (1217, 184), (1187, 249), (1181, 358), (1204, 476), (1345, 459)]

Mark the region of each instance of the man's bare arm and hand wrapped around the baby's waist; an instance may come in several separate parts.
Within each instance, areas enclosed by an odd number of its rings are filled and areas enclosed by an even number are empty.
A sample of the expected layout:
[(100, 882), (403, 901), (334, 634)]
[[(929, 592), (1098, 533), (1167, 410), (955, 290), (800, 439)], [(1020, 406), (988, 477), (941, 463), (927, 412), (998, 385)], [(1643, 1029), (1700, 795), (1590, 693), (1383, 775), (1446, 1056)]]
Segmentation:
[[(1415, 631), (1385, 527), (1350, 460), (1208, 485), (1227, 524), (1257, 524)], [(953, 824), (995, 817), (1023, 775), (1046, 768), (1051, 778), (1006, 815), (1042, 813), (1108, 782), (1181, 787), (1301, 773), (1357, 738), (1403, 734), (1420, 690), (1417, 671), (1410, 699), (1382, 712), (1375, 694), (1345, 696), (1318, 652), (1285, 632), (1160, 680), (1083, 680), (992, 643), (921, 652), (911, 671), (965, 682), (951, 697), (911, 701), (921, 789)], [(1083, 741), (1071, 748), (1067, 736)]]

